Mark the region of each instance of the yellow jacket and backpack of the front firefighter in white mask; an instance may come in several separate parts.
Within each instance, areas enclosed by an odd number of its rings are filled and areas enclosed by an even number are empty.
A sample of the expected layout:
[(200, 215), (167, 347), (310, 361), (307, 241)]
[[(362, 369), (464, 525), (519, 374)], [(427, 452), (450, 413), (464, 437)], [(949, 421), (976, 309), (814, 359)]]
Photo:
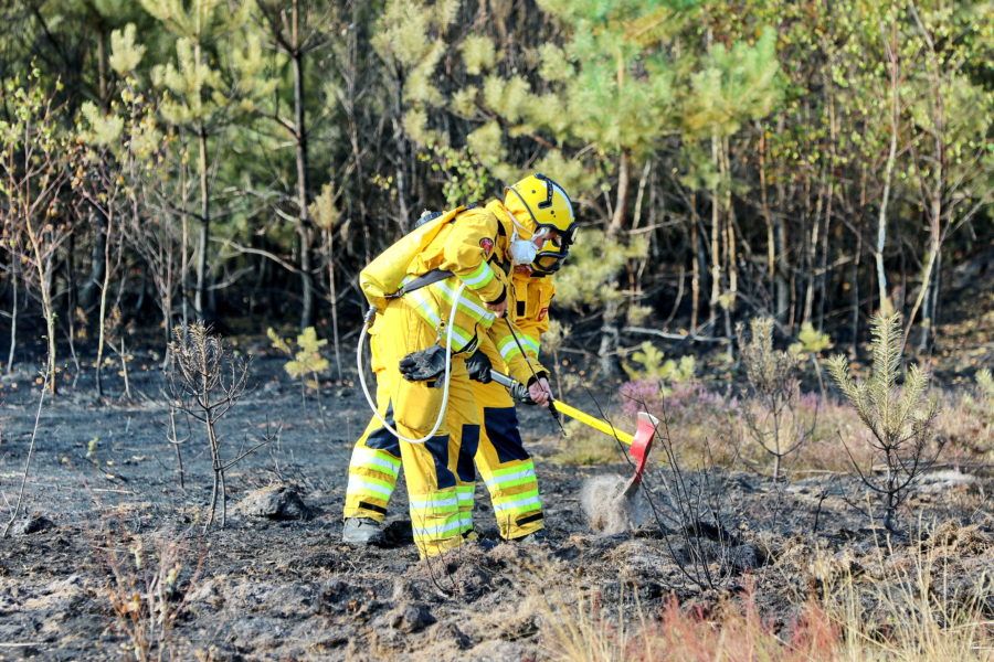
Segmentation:
[[(527, 383), (535, 366), (529, 366), (518, 350), (507, 323), (495, 323), (496, 317), (484, 307), (499, 303), (509, 290), (505, 271), (507, 231), (497, 216), (501, 210), (503, 205), (495, 202), (486, 207), (445, 212), (380, 254), (359, 274), (359, 286), (370, 305), (382, 311), (404, 284), (433, 269), (452, 271), (445, 280), (405, 293), (404, 300), (438, 331), (444, 344), (455, 292), (461, 282), (465, 284), (452, 329), (453, 352), (473, 351), (488, 337), (503, 348), (500, 355), (511, 375)], [(522, 335), (517, 329), (515, 332)]]

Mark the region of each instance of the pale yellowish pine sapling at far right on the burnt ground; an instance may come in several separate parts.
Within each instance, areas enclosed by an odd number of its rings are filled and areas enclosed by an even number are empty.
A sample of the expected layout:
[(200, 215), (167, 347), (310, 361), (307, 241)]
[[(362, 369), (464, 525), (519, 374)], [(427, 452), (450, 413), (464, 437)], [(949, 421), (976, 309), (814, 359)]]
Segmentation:
[[(859, 419), (870, 431), (874, 463), (882, 462), (878, 478), (874, 466), (861, 468), (849, 453), (853, 468), (864, 484), (880, 496), (884, 526), (896, 531), (895, 515), (908, 499), (911, 488), (942, 450), (933, 427), (939, 413), (938, 399), (928, 396), (929, 377), (918, 365), (910, 365), (903, 384), (898, 385), (901, 366), (901, 317), (899, 313), (874, 316), (873, 369), (864, 381), (849, 375), (849, 363), (838, 354), (828, 361), (828, 373)], [(935, 446), (932, 441), (935, 440)]]

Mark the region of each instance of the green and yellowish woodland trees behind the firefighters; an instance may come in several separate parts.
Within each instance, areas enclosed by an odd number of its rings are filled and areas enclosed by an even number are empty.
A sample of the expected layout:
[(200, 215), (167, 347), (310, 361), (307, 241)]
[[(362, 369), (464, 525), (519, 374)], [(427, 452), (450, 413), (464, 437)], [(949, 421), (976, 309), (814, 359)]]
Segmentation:
[[(220, 285), (204, 312), (294, 319), (311, 287), (325, 337), (332, 306), (358, 321), (356, 274), (423, 209), (532, 171), (567, 186), (586, 226), (557, 301), (578, 338), (614, 339), (601, 354), (623, 353), (626, 314), (731, 338), (769, 313), (790, 335), (855, 341), (893, 296), (875, 289), (881, 213), (897, 307), (928, 293), (910, 322), (924, 348), (933, 234), (940, 269), (992, 238), (994, 22), (980, 0), (15, 0), (0, 19), (9, 169), (29, 166), (13, 128), (41, 94), (59, 117), (45, 130), (92, 148), (52, 167), (119, 174), (123, 213), (170, 237), (167, 327), (187, 314), (182, 268), (205, 215)], [(103, 226), (71, 188), (60, 195), (74, 225), (65, 298), (93, 278)], [(149, 266), (141, 241), (114, 243), (126, 267)]]

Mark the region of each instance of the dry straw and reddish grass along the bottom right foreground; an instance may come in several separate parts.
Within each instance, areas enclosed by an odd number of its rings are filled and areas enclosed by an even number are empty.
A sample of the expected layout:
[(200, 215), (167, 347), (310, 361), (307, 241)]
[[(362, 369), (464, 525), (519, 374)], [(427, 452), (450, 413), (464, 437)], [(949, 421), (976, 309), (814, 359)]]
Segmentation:
[(932, 549), (912, 546), (900, 563), (878, 548), (871, 574), (849, 564), (818, 572), (815, 564), (823, 597), (795, 606), (786, 623), (764, 617), (755, 600), (761, 587), (707, 610), (672, 598), (655, 613), (634, 591), (605, 601), (575, 588), (547, 590), (543, 644), (553, 660), (585, 662), (991, 660), (994, 622), (984, 607), (994, 598), (991, 577), (977, 577), (966, 591), (950, 590), (950, 566), (939, 553), (948, 544), (945, 536)]

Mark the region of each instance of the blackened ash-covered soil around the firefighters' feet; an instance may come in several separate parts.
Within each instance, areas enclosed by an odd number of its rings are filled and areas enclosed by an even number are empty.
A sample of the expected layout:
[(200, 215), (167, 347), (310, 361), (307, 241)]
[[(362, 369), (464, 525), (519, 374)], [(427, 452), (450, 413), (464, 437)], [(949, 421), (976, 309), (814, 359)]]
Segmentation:
[[(859, 512), (865, 494), (852, 477), (795, 477), (773, 488), (754, 474), (713, 470), (708, 479), (721, 487), (725, 528), (701, 522), (679, 531), (665, 515), (673, 504), (660, 485), (672, 474), (662, 452), (647, 485), (663, 526), (646, 516), (634, 532), (593, 532), (581, 506), (584, 485), (628, 468), (621, 457), (593, 468), (551, 461), (569, 439), (540, 410), (522, 413), (522, 430), (537, 459), (544, 543), (501, 544), (479, 485), (479, 543), (419, 562), (401, 488), (383, 546), (350, 547), (340, 543), (341, 508), (368, 409), (358, 387), (329, 386), (322, 423), (314, 396), (302, 405), (281, 366), (256, 361), (256, 388), (222, 423), (229, 459), (267, 426), (281, 433), (229, 470), (226, 526), (205, 536), (210, 453), (200, 428), (178, 426), (180, 437), (191, 436), (181, 487), (156, 371), (135, 375), (147, 396), (131, 403), (97, 403), (85, 384), (45, 403), (27, 516), (0, 540), (0, 659), (128, 655), (125, 623), (147, 613), (131, 596), (147, 594), (160, 570), (154, 592), (176, 613), (161, 636), (175, 659), (542, 660), (561, 655), (552, 621), (581, 602), (625, 605), (651, 618), (669, 596), (706, 612), (751, 587), (771, 623), (790, 628), (829, 576), (868, 573), (879, 556), (881, 532)], [(15, 382), (0, 392), (4, 513), (17, 498), (36, 406), (32, 380)], [(982, 476), (928, 477), (906, 519), (920, 516), (930, 533), (896, 538), (889, 562), (929, 546), (953, 564), (943, 590), (972, 590), (971, 578), (994, 560), (992, 488)], [(715, 588), (688, 578), (694, 549), (713, 549)], [(985, 599), (994, 612), (994, 599)]]

